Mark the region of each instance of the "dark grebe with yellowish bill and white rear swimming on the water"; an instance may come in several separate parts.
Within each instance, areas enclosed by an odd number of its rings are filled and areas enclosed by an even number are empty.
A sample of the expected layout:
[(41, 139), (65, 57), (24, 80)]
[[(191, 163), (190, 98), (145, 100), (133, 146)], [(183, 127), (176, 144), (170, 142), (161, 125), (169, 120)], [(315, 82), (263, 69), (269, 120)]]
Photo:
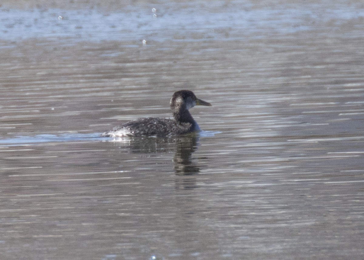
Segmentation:
[(189, 112), (189, 109), (195, 105), (211, 106), (210, 103), (198, 99), (192, 91), (179, 90), (174, 92), (170, 102), (174, 119), (158, 117), (139, 118), (102, 133), (101, 136), (162, 137), (201, 131), (197, 122), (193, 119)]

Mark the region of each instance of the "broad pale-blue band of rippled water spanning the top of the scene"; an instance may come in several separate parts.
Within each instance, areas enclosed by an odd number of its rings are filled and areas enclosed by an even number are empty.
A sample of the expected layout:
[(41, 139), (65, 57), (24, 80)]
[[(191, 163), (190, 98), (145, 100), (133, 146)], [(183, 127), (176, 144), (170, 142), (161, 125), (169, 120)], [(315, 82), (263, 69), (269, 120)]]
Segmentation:
[[(213, 8), (206, 6), (198, 11), (194, 7), (179, 8), (178, 3), (153, 13), (146, 7), (129, 6), (119, 12), (103, 12), (97, 9), (0, 9), (0, 38), (25, 40), (48, 38), (59, 41), (132, 40), (142, 44), (177, 39), (223, 39), (230, 34), (256, 34), (262, 29), (266, 35), (293, 33), (316, 28), (327, 23), (336, 26), (352, 19), (361, 19), (364, 9), (355, 5), (320, 10), (315, 4), (300, 9), (294, 6), (278, 6), (254, 9), (248, 4), (232, 4)], [(227, 16), (226, 13), (229, 13)], [(157, 15), (157, 16), (155, 16)], [(61, 18), (60, 18), (61, 17)], [(181, 35), (175, 32), (181, 32)], [(261, 34), (260, 34), (261, 35)], [(258, 35), (255, 35), (258, 36)], [(152, 42), (148, 42), (151, 40)], [(176, 40), (176, 39), (174, 39)]]

